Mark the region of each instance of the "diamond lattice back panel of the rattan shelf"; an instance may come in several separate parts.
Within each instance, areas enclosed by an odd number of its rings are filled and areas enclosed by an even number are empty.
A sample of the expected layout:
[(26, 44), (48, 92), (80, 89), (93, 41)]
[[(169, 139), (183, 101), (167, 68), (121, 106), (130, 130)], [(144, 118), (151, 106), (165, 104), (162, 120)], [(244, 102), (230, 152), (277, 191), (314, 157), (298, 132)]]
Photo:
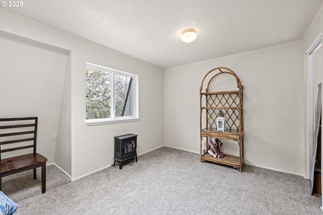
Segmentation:
[(216, 119), (220, 111), (226, 119), (225, 130), (239, 130), (239, 95), (238, 93), (230, 94), (213, 94), (207, 95), (207, 104), (209, 107), (224, 107), (217, 109), (207, 109), (207, 127), (217, 128)]

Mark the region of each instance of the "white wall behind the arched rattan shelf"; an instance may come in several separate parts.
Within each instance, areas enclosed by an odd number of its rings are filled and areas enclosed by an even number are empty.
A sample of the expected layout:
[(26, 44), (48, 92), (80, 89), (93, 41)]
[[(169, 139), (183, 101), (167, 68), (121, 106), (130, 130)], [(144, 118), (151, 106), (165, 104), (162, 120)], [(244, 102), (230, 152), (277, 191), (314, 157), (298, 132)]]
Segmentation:
[[(245, 164), (304, 176), (300, 42), (165, 70), (164, 144), (199, 153), (199, 86), (221, 66), (244, 86)], [(237, 146), (223, 142), (227, 152)]]

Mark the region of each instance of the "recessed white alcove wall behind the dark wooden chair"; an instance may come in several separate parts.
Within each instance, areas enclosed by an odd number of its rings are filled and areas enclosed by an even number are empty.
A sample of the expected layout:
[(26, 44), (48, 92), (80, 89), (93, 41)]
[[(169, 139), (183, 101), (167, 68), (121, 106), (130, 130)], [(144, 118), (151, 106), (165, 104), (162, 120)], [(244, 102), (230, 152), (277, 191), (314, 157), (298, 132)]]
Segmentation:
[(0, 47), (0, 115), (38, 117), (37, 152), (53, 163), (67, 53), (5, 32)]

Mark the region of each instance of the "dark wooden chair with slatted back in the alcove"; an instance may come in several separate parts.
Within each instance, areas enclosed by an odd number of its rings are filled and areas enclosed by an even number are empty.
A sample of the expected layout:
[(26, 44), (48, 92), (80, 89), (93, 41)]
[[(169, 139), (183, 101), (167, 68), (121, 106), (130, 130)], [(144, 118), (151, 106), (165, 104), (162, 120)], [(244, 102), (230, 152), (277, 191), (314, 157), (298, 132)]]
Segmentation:
[[(46, 192), (47, 158), (36, 153), (37, 120), (37, 117), (0, 119), (0, 190), (2, 177), (34, 170), (36, 179), (36, 168), (41, 167), (41, 191)], [(27, 148), (33, 148), (33, 153), (26, 153)], [(17, 150), (21, 153), (12, 152)], [(5, 152), (21, 155), (2, 159)]]

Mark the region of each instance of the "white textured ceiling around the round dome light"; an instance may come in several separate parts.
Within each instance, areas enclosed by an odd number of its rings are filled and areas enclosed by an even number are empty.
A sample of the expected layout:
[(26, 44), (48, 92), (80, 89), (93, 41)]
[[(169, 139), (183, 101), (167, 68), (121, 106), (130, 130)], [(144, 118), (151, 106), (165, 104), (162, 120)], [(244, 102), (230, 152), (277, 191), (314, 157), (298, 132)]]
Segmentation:
[[(323, 0), (33, 0), (2, 7), (160, 68), (299, 41)], [(0, 11), (1, 12), (1, 11)], [(192, 43), (180, 40), (186, 28)]]

